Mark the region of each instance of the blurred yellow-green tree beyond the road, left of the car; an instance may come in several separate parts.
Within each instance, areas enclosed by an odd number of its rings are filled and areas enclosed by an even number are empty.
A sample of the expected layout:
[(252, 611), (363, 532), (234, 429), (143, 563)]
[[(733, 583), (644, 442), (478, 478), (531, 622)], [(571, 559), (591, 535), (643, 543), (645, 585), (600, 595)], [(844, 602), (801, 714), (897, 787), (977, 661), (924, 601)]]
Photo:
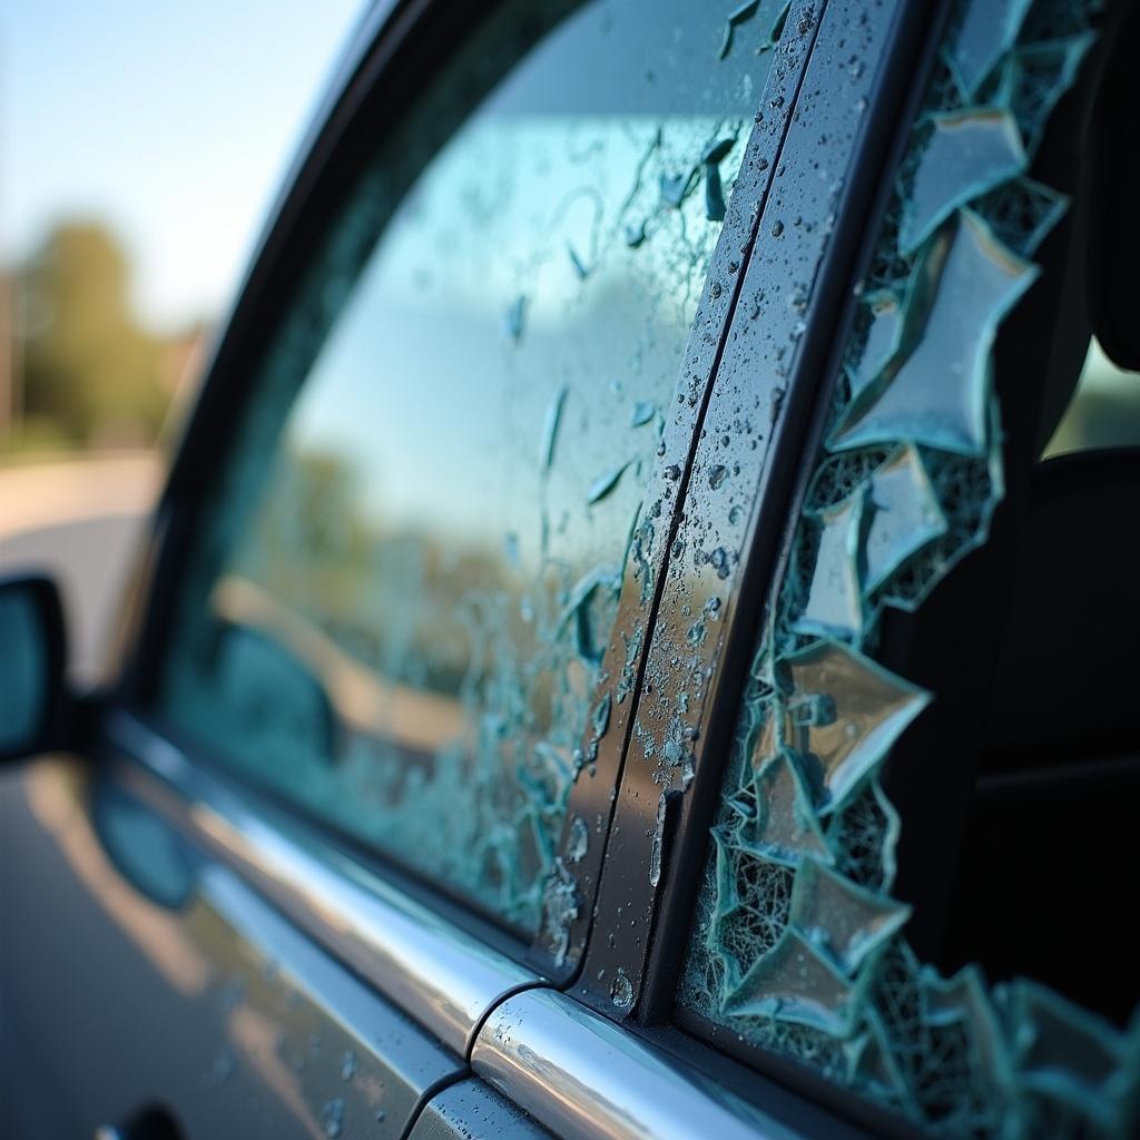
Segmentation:
[(54, 229), (19, 275), (23, 414), (73, 443), (152, 443), (162, 345), (136, 321), (127, 255), (93, 222)]

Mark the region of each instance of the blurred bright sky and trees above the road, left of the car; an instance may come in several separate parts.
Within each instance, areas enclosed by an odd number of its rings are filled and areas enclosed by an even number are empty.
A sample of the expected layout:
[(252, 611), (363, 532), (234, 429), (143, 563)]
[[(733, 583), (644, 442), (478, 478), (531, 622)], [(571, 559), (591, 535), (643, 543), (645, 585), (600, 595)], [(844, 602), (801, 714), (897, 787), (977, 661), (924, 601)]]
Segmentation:
[(0, 15), (0, 453), (146, 448), (364, 0)]

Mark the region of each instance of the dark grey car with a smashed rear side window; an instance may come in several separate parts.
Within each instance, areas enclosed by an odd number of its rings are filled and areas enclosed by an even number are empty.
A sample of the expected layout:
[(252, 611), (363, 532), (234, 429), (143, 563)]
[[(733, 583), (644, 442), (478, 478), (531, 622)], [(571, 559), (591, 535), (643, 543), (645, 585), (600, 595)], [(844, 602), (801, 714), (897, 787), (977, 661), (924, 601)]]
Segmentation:
[(5, 1134), (1137, 1135), (1138, 51), (369, 9), (100, 683), (0, 586)]

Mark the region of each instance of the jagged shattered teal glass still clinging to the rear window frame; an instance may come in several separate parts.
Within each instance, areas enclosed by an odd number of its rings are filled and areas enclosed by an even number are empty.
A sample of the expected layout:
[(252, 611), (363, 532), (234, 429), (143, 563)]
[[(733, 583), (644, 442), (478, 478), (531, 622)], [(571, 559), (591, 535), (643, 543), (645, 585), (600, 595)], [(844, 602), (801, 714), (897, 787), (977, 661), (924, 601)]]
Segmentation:
[(678, 997), (953, 1135), (1138, 1126), (1140, 1017), (910, 948), (879, 774), (929, 694), (873, 659), (882, 608), (917, 608), (1002, 498), (991, 350), (1066, 207), (1026, 171), (1097, 7), (952, 13), (752, 660)]

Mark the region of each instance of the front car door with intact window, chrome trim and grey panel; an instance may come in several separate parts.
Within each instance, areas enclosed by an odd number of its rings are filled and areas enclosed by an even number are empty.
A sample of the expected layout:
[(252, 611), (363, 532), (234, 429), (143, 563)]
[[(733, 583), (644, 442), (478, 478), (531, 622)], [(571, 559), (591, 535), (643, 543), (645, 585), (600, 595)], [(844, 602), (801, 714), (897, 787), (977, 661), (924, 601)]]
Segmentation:
[(6, 780), (21, 1134), (538, 1130), (470, 1059), (580, 963), (702, 410), (677, 375), (815, 26), (777, 8), (377, 15), (219, 343), (121, 674)]

